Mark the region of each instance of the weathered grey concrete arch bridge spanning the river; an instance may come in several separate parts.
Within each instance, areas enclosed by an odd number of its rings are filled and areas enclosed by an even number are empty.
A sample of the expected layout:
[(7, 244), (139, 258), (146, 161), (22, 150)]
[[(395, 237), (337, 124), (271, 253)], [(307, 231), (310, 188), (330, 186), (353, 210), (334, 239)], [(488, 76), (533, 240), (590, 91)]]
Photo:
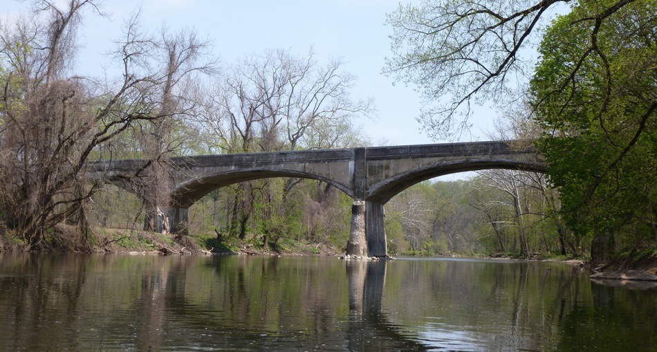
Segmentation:
[[(171, 162), (172, 232), (188, 221), (194, 202), (219, 187), (259, 178), (311, 178), (353, 198), (347, 252), (370, 257), (387, 255), (383, 205), (411, 185), (481, 169), (546, 169), (528, 140), (184, 156)], [(91, 165), (89, 173), (121, 185), (146, 163), (102, 161)]]

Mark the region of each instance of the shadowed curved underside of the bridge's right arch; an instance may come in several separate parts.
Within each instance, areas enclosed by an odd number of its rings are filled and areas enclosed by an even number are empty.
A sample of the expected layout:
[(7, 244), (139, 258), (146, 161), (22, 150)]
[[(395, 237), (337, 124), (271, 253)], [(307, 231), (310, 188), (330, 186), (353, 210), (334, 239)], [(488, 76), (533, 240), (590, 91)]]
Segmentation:
[(544, 173), (546, 164), (537, 160), (521, 161), (518, 158), (463, 158), (438, 162), (409, 169), (406, 172), (369, 185), (365, 198), (373, 203), (385, 204), (405, 189), (424, 180), (459, 172), (485, 169), (512, 169)]

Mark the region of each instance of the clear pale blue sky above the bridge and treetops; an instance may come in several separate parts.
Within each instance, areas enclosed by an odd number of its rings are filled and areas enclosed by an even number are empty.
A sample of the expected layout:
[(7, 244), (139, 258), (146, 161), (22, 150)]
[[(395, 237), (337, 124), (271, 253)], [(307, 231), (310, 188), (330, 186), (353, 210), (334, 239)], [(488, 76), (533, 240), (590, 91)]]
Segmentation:
[[(63, 0), (55, 0), (62, 3)], [(405, 1), (402, 1), (405, 2)], [(304, 55), (313, 46), (315, 59), (342, 57), (343, 68), (358, 77), (354, 99), (373, 97), (378, 116), (362, 120), (373, 144), (387, 145), (433, 142), (420, 132), (415, 118), (420, 110), (419, 94), (403, 84), (393, 85), (381, 74), (385, 56), (391, 55), (391, 28), (386, 13), (396, 10), (398, 0), (104, 0), (110, 19), (86, 14), (79, 44), (82, 74), (102, 74), (100, 56), (121, 35), (124, 19), (142, 8), (145, 30), (155, 33), (167, 24), (171, 30), (194, 28), (214, 43), (216, 55), (231, 64), (244, 55), (284, 48)], [(4, 0), (0, 14), (26, 11), (30, 1)], [(97, 72), (94, 72), (97, 71)], [(482, 130), (490, 127), (492, 115), (474, 116), (472, 136), (461, 140), (486, 140)], [(441, 142), (441, 141), (438, 141)]]

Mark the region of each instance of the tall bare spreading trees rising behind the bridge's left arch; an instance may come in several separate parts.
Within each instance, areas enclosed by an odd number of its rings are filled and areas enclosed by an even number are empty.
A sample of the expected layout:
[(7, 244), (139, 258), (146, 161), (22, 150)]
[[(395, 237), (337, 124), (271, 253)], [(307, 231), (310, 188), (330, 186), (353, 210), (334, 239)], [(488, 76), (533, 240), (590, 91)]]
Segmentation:
[[(351, 100), (355, 77), (342, 72), (341, 66), (335, 59), (320, 66), (312, 53), (294, 57), (286, 50), (246, 57), (219, 78), (208, 95), (205, 116), (198, 122), (207, 135), (215, 136), (212, 149), (223, 153), (340, 147), (342, 136), (354, 140), (353, 120), (373, 110), (371, 100)], [(270, 206), (255, 204), (257, 199), (280, 196), (281, 207), (259, 214), (285, 219), (288, 194), (299, 179), (286, 179), (280, 193), (271, 188), (274, 184), (248, 181), (237, 185), (230, 233), (246, 237), (252, 210)], [(275, 229), (263, 232), (270, 230)]]

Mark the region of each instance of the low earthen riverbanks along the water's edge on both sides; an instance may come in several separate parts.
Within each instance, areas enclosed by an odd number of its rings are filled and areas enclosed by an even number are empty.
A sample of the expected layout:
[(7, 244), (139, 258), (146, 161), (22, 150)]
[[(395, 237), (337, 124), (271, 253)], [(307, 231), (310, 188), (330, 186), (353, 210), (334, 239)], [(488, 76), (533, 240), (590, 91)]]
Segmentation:
[[(0, 252), (27, 252), (26, 243), (6, 230), (0, 236)], [(48, 238), (37, 244), (42, 252), (122, 253), (122, 254), (246, 254), (246, 255), (327, 255), (339, 256), (345, 248), (331, 243), (308, 243), (291, 239), (262, 246), (258, 239), (219, 241), (216, 235), (167, 235), (135, 229), (92, 227), (86, 235), (75, 226), (59, 225)], [(511, 259), (511, 258), (495, 258)], [(572, 265), (591, 265), (581, 260), (529, 259), (558, 261)], [(604, 263), (591, 265), (595, 280), (655, 281), (657, 254), (654, 250), (632, 250)]]

